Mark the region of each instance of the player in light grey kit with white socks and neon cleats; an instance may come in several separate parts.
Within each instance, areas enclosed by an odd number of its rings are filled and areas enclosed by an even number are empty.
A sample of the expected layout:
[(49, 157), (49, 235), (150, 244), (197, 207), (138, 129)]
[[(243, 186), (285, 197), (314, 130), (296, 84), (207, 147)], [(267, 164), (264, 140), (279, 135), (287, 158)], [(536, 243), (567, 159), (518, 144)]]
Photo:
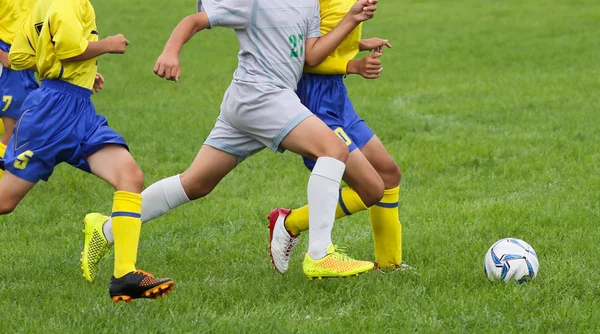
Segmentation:
[[(142, 221), (208, 195), (237, 164), (265, 147), (290, 150), (316, 160), (307, 190), (310, 229), (304, 274), (309, 279), (346, 277), (371, 270), (372, 262), (351, 259), (331, 242), (348, 148), (294, 92), (305, 62), (321, 63), (360, 22), (373, 17), (376, 3), (357, 1), (338, 26), (321, 37), (318, 0), (200, 0), (198, 13), (173, 30), (154, 72), (178, 81), (183, 45), (197, 32), (219, 26), (235, 30), (238, 68), (215, 127), (192, 165), (142, 193)], [(111, 234), (109, 219), (99, 214), (86, 217), (90, 237), (82, 253), (84, 274), (95, 273)]]

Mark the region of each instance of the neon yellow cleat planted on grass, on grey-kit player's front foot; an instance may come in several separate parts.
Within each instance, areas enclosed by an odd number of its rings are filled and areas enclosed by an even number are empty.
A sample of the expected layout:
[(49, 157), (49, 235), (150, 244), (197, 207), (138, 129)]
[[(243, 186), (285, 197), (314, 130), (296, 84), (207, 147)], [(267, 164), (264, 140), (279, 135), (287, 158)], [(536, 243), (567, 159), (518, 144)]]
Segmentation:
[(348, 255), (335, 250), (333, 245), (327, 247), (327, 255), (320, 260), (313, 260), (308, 253), (304, 256), (304, 275), (310, 280), (317, 278), (342, 278), (358, 276), (373, 269), (373, 262), (354, 260)]

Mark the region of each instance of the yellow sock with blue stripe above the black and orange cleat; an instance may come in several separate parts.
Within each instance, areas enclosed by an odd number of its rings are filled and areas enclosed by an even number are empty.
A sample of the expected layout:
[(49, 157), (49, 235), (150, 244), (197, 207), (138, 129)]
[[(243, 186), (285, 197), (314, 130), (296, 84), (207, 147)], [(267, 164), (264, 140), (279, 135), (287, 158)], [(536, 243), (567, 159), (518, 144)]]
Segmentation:
[(135, 270), (142, 229), (142, 195), (115, 192), (111, 217), (115, 238), (114, 276), (120, 278)]

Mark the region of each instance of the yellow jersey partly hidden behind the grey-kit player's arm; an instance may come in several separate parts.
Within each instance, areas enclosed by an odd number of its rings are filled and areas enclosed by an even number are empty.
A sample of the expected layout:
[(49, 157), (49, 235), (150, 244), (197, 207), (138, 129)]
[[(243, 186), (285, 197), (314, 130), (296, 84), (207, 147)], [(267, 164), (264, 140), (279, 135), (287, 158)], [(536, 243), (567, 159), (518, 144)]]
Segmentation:
[[(356, 0), (320, 0), (321, 4), (321, 35), (331, 31), (350, 8), (354, 6)], [(356, 27), (342, 44), (338, 46), (321, 64), (314, 67), (304, 67), (306, 73), (316, 74), (344, 74), (348, 62), (358, 54), (360, 37), (362, 33), (362, 23)]]

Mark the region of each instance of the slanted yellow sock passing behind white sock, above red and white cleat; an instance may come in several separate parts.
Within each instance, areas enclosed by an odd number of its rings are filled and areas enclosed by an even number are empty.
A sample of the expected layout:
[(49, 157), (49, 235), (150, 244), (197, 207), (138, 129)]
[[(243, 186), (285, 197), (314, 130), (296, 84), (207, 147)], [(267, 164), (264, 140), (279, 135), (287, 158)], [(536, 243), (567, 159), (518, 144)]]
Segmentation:
[[(349, 216), (353, 213), (366, 210), (367, 207), (354, 189), (345, 187), (340, 189), (340, 199), (335, 209), (335, 219)], [(293, 235), (308, 230), (308, 205), (294, 209), (285, 219), (285, 228)]]

